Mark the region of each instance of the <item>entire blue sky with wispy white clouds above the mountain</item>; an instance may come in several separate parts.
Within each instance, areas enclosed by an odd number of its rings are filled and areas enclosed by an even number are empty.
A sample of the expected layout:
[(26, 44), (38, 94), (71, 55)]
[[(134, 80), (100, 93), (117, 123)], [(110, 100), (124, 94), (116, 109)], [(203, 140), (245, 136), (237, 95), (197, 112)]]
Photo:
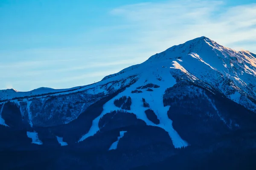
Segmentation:
[(206, 36), (256, 53), (254, 0), (0, 0), (0, 89), (100, 81)]

